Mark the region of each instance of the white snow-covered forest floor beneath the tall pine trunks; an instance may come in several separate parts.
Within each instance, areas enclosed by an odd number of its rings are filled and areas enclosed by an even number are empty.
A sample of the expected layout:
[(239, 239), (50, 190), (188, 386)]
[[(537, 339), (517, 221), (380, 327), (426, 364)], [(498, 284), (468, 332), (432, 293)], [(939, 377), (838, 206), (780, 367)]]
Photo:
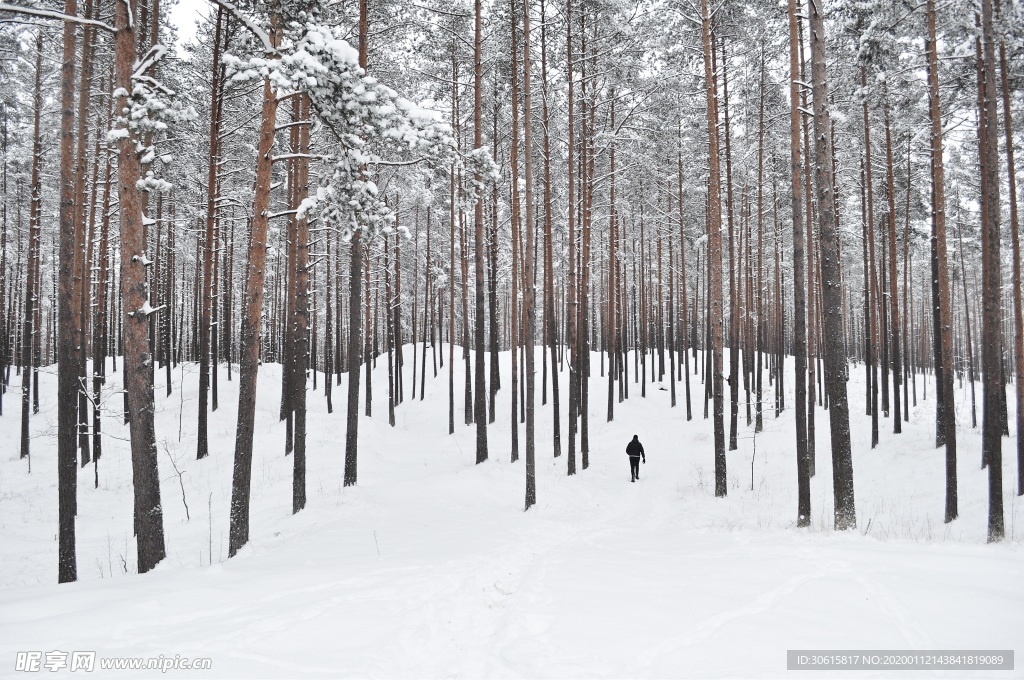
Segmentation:
[[(386, 365), (378, 364), (374, 417), (359, 425), (354, 487), (342, 487), (344, 382), (335, 388), (334, 414), (322, 393), (310, 394), (308, 505), (294, 516), (292, 460), (276, 418), (281, 371), (262, 367), (251, 541), (230, 560), (238, 383), (221, 367), (211, 456), (196, 461), (196, 368), (175, 370), (170, 397), (158, 371), (167, 559), (152, 573), (133, 573), (127, 429), (108, 418), (99, 487), (91, 466), (79, 474), (80, 582), (61, 586), (55, 583), (54, 376), (41, 376), (31, 473), (18, 460), (17, 394), (8, 393), (0, 418), (0, 677), (25, 675), (14, 668), (16, 652), (26, 650), (209, 657), (210, 671), (178, 673), (218, 678), (781, 677), (792, 675), (786, 649), (1024, 652), (1016, 439), (1004, 445), (1008, 540), (986, 545), (980, 431), (968, 427), (969, 407), (959, 405), (961, 517), (943, 524), (944, 453), (932, 445), (934, 401), (921, 399), (921, 377), (904, 433), (893, 435), (891, 420), (883, 420), (882, 444), (872, 451), (863, 370), (851, 371), (858, 529), (837, 534), (821, 410), (813, 525), (795, 527), (792, 360), (790, 408), (778, 419), (766, 413), (756, 439), (740, 407), (728, 497), (716, 499), (699, 380), (691, 385), (694, 419), (686, 422), (682, 384), (674, 410), (657, 386), (648, 385), (642, 398), (631, 360), (631, 396), (606, 423), (607, 388), (596, 375), (595, 354), (590, 468), (566, 476), (564, 451), (552, 457), (550, 405), (539, 405), (538, 504), (524, 513), (523, 460), (509, 458), (509, 355), (502, 357), (498, 422), (488, 429), (490, 458), (474, 465), (475, 430), (463, 425), (460, 353), (454, 436), (446, 366), (436, 379), (428, 377), (424, 401), (407, 398), (397, 408), (391, 428)], [(406, 354), (409, 389), (409, 347)], [(567, 373), (561, 378), (564, 385)], [(115, 374), (109, 394), (119, 380)], [(540, 394), (539, 384), (539, 400)], [(117, 402), (109, 396), (112, 411)], [(565, 425), (563, 415), (563, 449)], [(635, 484), (624, 453), (634, 433), (647, 451)], [(521, 447), (523, 440), (520, 429)], [(97, 673), (145, 675), (100, 672), (98, 662)], [(898, 675), (933, 676), (964, 673)], [(970, 677), (1022, 676), (1018, 670)]]

